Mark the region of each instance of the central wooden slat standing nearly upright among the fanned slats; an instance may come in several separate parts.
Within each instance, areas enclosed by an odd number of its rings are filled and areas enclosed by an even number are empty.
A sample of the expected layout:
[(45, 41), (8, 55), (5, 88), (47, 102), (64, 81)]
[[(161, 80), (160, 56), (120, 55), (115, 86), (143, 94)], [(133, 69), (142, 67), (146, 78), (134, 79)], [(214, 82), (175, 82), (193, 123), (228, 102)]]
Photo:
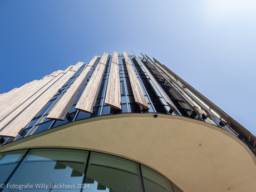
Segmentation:
[(107, 82), (107, 91), (105, 104), (115, 109), (121, 110), (121, 91), (119, 77), (119, 59), (118, 53), (113, 51), (109, 81)]

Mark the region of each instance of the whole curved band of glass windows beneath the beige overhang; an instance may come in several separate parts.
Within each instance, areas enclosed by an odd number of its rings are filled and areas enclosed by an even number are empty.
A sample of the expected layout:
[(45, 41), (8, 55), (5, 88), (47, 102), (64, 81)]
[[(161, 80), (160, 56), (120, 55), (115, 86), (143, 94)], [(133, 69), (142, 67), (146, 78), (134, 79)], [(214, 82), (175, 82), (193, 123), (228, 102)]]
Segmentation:
[(26, 151), (0, 153), (0, 191), (181, 192), (156, 171), (121, 157), (74, 149)]

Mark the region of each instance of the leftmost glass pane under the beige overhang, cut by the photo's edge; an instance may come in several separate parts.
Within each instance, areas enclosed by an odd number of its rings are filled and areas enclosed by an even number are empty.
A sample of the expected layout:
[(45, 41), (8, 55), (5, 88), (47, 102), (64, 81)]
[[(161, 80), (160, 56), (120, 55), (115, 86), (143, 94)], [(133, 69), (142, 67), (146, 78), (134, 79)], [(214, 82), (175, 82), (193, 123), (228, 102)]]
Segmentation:
[(6, 182), (27, 150), (8, 151), (0, 153), (0, 183)]

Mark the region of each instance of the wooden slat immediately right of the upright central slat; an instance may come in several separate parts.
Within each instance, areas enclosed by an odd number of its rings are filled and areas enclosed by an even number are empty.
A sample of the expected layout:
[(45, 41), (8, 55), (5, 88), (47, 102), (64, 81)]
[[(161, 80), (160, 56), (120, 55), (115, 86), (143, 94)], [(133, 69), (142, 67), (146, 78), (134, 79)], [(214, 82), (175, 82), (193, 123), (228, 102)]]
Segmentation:
[(128, 71), (128, 75), (129, 75), (129, 80), (131, 82), (131, 88), (132, 88), (132, 93), (134, 93), (134, 99), (136, 104), (146, 108), (146, 109), (150, 109), (149, 105), (147, 105), (147, 101), (145, 98), (145, 95), (142, 91), (142, 88), (140, 87), (140, 82), (136, 77), (136, 74), (134, 72), (134, 68), (131, 65), (129, 56), (127, 55), (127, 53), (125, 51), (122, 51), (124, 54), (124, 58), (125, 58), (125, 65)]

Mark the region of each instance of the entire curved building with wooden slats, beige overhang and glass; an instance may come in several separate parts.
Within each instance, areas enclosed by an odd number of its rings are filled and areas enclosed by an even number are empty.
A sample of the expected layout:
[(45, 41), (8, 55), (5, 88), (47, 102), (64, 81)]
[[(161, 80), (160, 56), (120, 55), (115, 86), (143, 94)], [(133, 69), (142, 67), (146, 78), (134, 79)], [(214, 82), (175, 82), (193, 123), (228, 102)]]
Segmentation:
[(113, 52), (0, 95), (0, 191), (253, 191), (256, 137), (155, 58)]

